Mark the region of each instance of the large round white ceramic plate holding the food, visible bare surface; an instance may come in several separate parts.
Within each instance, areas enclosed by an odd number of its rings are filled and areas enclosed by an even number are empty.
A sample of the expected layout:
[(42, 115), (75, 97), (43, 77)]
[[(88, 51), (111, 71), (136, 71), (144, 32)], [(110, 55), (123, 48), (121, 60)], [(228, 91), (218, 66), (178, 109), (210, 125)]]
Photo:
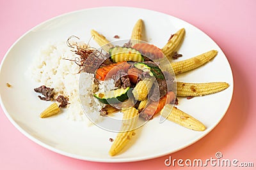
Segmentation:
[[(143, 126), (136, 135), (133, 145), (116, 157), (109, 157), (109, 138), (115, 133), (97, 126), (88, 127), (84, 122), (72, 122), (65, 116), (40, 119), (38, 112), (45, 107), (35, 99), (33, 80), (25, 76), (33, 53), (49, 41), (65, 41), (76, 35), (84, 41), (90, 39), (90, 30), (95, 29), (110, 41), (128, 39), (132, 27), (142, 18), (145, 22), (150, 43), (162, 47), (171, 34), (184, 27), (186, 37), (179, 53), (179, 60), (193, 57), (209, 50), (218, 50), (214, 60), (203, 67), (177, 76), (179, 81), (209, 82), (226, 81), (228, 89), (210, 96), (193, 99), (179, 98), (179, 108), (198, 118), (205, 124), (204, 132), (196, 132), (165, 121), (159, 124), (154, 118)], [(91, 45), (96, 45), (91, 41)], [(6, 87), (6, 82), (12, 88)], [(198, 141), (208, 134), (223, 118), (230, 104), (233, 92), (233, 78), (230, 65), (220, 47), (196, 27), (183, 20), (156, 11), (138, 8), (93, 8), (74, 11), (52, 18), (28, 31), (8, 50), (0, 72), (1, 106), (13, 125), (29, 139), (54, 152), (82, 160), (98, 162), (131, 162), (152, 159), (176, 152)], [(62, 114), (65, 115), (65, 114)]]

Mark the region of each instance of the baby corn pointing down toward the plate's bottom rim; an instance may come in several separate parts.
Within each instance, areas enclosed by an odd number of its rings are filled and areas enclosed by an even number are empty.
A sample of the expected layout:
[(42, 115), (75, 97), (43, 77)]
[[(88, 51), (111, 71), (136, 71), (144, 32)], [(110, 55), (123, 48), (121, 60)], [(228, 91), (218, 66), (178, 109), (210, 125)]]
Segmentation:
[(128, 110), (123, 110), (122, 112), (124, 114), (122, 127), (109, 150), (109, 155), (111, 156), (114, 156), (122, 151), (122, 149), (127, 145), (132, 136), (135, 134), (134, 129), (136, 128), (139, 117), (138, 110), (135, 108), (129, 108)]

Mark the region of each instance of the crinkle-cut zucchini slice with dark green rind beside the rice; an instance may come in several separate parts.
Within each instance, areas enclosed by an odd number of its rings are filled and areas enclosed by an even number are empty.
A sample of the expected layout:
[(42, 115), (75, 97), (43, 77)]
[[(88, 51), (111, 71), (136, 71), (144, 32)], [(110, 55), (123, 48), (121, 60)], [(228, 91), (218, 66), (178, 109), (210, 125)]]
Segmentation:
[(116, 104), (121, 103), (128, 99), (128, 91), (130, 87), (127, 87), (126, 89), (116, 89), (116, 90), (110, 90), (108, 92), (105, 92), (105, 94), (99, 93), (99, 94), (93, 94), (94, 97), (96, 97), (101, 103), (104, 104)]

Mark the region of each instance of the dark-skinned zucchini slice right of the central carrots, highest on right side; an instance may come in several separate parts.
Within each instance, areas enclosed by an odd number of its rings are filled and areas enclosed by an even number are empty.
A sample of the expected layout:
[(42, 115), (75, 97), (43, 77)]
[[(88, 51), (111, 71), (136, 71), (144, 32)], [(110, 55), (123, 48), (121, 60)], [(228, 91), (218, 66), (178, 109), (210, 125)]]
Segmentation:
[(150, 62), (136, 62), (134, 66), (141, 69), (144, 72), (149, 72), (150, 76), (155, 76), (155, 78), (164, 79), (164, 74), (161, 69)]

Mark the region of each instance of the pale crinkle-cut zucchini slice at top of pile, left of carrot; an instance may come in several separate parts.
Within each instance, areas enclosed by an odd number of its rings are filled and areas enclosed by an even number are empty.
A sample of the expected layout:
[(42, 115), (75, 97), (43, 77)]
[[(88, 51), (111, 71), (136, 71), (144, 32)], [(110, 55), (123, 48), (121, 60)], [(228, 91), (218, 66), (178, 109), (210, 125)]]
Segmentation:
[(126, 48), (122, 46), (116, 46), (109, 49), (109, 55), (113, 62), (123, 62), (123, 61), (134, 61), (141, 62), (144, 61), (143, 56), (140, 52), (133, 48)]

